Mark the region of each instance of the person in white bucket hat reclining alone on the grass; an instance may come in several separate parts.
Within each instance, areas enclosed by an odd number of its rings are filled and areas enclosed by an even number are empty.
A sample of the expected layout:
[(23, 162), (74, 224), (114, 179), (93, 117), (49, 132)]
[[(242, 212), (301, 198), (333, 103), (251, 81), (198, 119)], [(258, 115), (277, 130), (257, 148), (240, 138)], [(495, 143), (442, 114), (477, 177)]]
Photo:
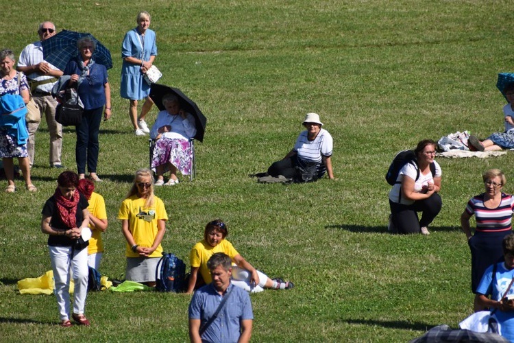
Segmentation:
[(301, 132), (293, 150), (281, 161), (268, 168), (267, 174), (291, 178), (295, 182), (309, 182), (322, 178), (325, 172), (334, 179), (332, 171), (332, 136), (321, 128), (317, 113), (308, 113), (302, 125), (307, 129)]

